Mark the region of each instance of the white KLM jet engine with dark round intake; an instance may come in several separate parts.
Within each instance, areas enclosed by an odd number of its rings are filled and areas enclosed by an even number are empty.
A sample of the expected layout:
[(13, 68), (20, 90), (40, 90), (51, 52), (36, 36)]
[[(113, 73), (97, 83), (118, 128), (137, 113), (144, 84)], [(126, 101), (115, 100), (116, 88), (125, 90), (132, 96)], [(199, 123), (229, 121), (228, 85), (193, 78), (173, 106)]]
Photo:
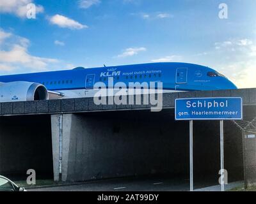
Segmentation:
[(49, 99), (46, 87), (33, 82), (0, 83), (0, 102), (38, 101)]

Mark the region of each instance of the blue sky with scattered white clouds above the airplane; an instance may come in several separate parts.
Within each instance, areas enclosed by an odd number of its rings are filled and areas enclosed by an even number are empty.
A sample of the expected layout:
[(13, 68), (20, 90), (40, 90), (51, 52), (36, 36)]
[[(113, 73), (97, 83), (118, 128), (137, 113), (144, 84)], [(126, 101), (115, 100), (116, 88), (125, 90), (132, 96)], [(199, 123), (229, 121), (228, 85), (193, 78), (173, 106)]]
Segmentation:
[(0, 75), (191, 62), (256, 87), (255, 8), (255, 0), (0, 0)]

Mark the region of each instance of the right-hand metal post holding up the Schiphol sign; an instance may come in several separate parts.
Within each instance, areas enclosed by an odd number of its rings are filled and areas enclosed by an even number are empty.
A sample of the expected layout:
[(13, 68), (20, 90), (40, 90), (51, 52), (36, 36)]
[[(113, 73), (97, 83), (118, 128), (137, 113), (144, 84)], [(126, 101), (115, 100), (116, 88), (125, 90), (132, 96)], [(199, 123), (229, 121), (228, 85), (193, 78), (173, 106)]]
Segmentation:
[(221, 173), (221, 191), (225, 191), (225, 169), (224, 169), (224, 132), (223, 120), (220, 120), (220, 173)]

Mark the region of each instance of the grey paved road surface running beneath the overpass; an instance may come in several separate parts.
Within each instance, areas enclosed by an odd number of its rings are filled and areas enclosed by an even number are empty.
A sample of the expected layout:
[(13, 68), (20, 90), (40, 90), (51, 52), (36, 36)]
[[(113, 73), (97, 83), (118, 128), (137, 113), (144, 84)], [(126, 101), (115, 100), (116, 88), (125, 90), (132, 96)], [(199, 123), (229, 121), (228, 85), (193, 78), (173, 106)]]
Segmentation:
[[(234, 182), (226, 189), (241, 186), (243, 182)], [(220, 191), (220, 186), (209, 186), (198, 182), (195, 184), (195, 191)], [(121, 178), (99, 180), (95, 182), (86, 182), (83, 184), (44, 187), (36, 189), (28, 189), (28, 191), (189, 191), (189, 180), (186, 179), (135, 179)]]

